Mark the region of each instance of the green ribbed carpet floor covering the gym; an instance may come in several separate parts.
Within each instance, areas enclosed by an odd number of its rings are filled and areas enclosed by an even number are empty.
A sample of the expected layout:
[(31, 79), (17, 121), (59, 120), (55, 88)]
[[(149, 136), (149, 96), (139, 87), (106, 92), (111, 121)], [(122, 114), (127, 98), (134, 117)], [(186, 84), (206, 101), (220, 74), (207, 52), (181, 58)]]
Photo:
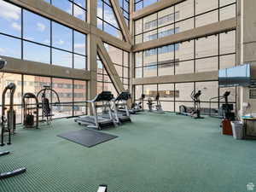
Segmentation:
[(105, 130), (119, 136), (93, 148), (56, 137), (82, 129), (73, 119), (19, 129), (0, 171), (27, 172), (0, 181), (1, 192), (241, 192), (256, 185), (256, 141), (222, 136), (219, 120), (142, 113)]

